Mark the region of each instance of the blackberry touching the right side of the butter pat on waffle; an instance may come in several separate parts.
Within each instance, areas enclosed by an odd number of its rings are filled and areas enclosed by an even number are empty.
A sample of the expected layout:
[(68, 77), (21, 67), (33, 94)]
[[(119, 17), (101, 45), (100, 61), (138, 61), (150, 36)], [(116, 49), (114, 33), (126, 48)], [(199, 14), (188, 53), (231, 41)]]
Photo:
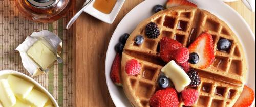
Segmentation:
[(190, 69), (189, 72), (187, 73), (187, 75), (191, 79), (191, 83), (189, 84), (189, 86), (196, 87), (196, 86), (200, 85), (201, 78), (198, 75), (196, 70)]

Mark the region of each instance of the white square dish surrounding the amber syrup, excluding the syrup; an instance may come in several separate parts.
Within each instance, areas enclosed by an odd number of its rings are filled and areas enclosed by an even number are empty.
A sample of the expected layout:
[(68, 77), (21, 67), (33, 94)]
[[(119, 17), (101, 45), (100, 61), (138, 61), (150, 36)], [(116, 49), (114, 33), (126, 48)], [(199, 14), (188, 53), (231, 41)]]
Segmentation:
[(118, 14), (118, 12), (122, 8), (124, 1), (125, 0), (117, 0), (116, 4), (110, 14), (105, 14), (105, 13), (102, 13), (102, 12), (98, 11), (97, 9), (95, 9), (93, 7), (95, 0), (93, 0), (90, 4), (88, 4), (87, 8), (84, 9), (83, 11), (101, 21), (112, 24)]

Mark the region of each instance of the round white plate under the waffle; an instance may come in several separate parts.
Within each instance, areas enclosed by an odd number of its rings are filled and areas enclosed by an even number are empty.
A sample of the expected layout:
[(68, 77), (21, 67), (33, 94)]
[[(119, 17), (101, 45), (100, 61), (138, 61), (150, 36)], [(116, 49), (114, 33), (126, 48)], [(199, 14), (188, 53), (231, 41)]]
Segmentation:
[[(118, 43), (119, 37), (124, 33), (131, 33), (139, 22), (153, 15), (152, 8), (166, 0), (146, 0), (131, 10), (119, 23), (110, 40), (108, 51), (106, 52), (105, 74), (106, 84), (108, 85), (110, 96), (116, 106), (131, 106), (126, 98), (122, 87), (115, 86), (110, 78), (111, 65), (115, 57), (114, 46)], [(255, 92), (255, 36), (245, 20), (231, 7), (220, 0), (193, 0), (198, 8), (207, 10), (225, 21), (229, 27), (236, 33), (242, 43), (246, 61), (248, 65), (249, 76), (247, 85)], [(218, 8), (217, 8), (218, 7)]]

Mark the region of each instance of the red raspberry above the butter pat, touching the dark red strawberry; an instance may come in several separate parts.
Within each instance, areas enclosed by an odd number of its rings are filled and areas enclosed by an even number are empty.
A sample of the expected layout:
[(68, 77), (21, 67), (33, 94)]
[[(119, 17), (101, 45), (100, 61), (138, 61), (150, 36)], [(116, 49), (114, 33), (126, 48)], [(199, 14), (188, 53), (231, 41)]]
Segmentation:
[(174, 50), (171, 54), (178, 63), (185, 63), (189, 59), (189, 51), (185, 47)]

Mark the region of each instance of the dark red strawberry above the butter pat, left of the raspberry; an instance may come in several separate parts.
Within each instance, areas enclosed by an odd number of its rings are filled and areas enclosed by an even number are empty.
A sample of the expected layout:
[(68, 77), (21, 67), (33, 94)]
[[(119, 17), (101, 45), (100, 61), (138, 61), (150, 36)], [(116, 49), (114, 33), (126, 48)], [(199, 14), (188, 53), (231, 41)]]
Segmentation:
[(172, 51), (177, 50), (182, 47), (182, 44), (174, 39), (168, 37), (163, 37), (160, 40), (160, 57), (163, 61), (169, 62), (174, 60), (173, 56), (170, 54)]

